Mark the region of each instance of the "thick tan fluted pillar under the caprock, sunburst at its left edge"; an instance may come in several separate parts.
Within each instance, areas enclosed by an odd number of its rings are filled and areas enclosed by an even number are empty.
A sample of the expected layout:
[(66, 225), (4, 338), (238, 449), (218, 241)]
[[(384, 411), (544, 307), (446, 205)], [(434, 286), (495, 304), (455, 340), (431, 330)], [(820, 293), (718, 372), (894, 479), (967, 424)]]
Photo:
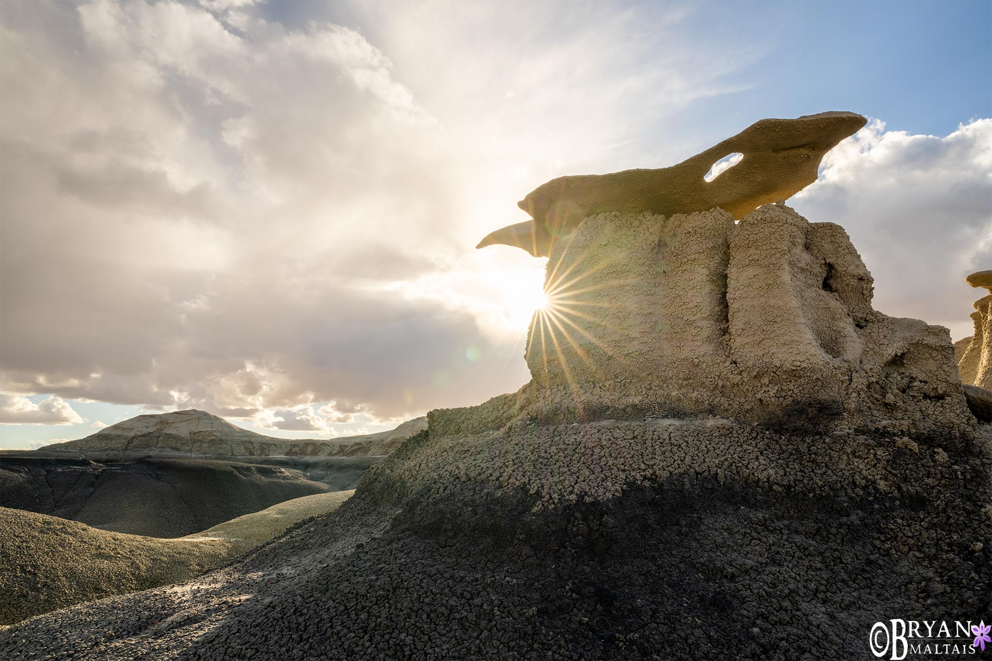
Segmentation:
[[(532, 396), (578, 419), (711, 414), (791, 429), (964, 433), (948, 332), (871, 307), (846, 232), (768, 204), (601, 213), (559, 239)], [(553, 405), (552, 405), (553, 406)]]

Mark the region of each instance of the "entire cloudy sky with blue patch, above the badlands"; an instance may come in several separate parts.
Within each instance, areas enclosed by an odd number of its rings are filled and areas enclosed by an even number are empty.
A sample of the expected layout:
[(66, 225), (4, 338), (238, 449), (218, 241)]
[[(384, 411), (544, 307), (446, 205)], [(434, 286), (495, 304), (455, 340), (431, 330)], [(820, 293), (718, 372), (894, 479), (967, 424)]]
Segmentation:
[(790, 203), (877, 310), (970, 334), (992, 268), (992, 3), (0, 3), (0, 448), (197, 408), (380, 431), (528, 379), (568, 174), (764, 117), (870, 119)]

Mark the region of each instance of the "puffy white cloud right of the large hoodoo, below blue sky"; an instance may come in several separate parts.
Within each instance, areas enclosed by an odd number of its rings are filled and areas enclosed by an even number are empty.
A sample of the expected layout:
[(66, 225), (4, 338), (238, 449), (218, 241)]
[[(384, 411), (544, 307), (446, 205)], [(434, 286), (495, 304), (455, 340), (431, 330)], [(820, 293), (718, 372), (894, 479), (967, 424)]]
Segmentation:
[(826, 155), (793, 203), (847, 230), (875, 278), (877, 310), (971, 334), (984, 291), (964, 276), (992, 267), (992, 119), (946, 137), (873, 119)]

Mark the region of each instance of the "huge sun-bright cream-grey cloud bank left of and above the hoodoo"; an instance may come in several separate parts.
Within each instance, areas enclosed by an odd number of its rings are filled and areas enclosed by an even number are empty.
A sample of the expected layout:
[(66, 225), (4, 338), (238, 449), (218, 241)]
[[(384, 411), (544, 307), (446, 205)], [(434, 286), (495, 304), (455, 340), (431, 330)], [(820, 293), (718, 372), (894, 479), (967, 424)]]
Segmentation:
[(543, 264), (475, 242), (749, 57), (684, 9), (201, 5), (0, 3), (9, 392), (316, 429), (515, 390)]

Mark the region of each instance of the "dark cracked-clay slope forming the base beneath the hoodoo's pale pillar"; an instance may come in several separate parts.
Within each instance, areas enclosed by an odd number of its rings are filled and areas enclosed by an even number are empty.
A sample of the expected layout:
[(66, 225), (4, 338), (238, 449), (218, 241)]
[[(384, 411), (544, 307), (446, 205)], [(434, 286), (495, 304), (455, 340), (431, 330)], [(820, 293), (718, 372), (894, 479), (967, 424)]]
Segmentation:
[(719, 419), (443, 429), (242, 560), (26, 620), (0, 652), (865, 658), (879, 619), (988, 619), (988, 426), (953, 442)]

